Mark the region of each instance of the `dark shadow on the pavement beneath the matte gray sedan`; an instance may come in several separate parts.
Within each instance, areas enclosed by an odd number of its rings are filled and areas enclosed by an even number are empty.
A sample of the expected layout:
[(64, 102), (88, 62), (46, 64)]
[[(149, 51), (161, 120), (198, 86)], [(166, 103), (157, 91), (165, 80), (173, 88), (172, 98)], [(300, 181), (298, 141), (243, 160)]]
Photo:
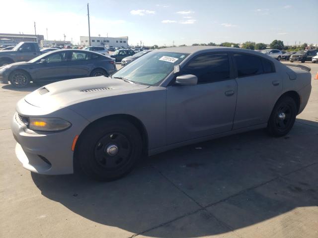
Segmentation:
[[(209, 236), (317, 206), (317, 139), (318, 123), (297, 119), (284, 137), (256, 130), (185, 146), (149, 157), (112, 182), (87, 179), (78, 168), (32, 179), (45, 197), (100, 224), (151, 237)], [(195, 217), (202, 210), (227, 226)], [(191, 224), (196, 228), (186, 229)]]

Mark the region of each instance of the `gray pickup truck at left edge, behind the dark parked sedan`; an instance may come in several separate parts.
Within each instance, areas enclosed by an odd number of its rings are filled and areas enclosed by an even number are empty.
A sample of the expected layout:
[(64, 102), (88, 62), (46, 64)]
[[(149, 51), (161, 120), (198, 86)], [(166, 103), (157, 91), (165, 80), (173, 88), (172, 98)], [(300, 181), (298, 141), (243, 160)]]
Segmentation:
[(29, 61), (41, 55), (36, 42), (20, 42), (11, 51), (0, 51), (0, 67), (19, 61)]

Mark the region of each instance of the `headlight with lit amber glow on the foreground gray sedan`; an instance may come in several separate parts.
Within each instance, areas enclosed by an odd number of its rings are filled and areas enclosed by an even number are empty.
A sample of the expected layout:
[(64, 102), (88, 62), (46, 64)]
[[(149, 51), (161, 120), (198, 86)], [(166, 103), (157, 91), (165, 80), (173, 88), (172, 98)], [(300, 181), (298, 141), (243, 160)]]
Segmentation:
[(60, 118), (29, 118), (31, 130), (57, 131), (67, 129), (71, 125), (69, 121)]

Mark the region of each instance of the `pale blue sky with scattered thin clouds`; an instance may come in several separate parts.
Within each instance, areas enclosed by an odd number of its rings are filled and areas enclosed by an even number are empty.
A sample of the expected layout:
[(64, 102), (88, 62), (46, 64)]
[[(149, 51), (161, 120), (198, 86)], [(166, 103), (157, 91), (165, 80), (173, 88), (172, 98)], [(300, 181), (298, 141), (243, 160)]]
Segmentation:
[[(0, 33), (49, 40), (128, 36), (129, 45), (245, 41), (318, 44), (318, 0), (4, 0)], [(6, 10), (4, 10), (6, 9)], [(11, 10), (12, 9), (12, 10)]]

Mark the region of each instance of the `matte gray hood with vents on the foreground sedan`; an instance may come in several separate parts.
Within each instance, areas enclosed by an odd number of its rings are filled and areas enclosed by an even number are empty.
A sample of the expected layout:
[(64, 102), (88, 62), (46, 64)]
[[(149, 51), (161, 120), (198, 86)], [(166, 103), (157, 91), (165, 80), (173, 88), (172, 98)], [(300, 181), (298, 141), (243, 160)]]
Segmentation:
[(54, 111), (83, 101), (118, 96), (148, 87), (104, 76), (77, 78), (45, 85), (24, 99), (33, 106)]

